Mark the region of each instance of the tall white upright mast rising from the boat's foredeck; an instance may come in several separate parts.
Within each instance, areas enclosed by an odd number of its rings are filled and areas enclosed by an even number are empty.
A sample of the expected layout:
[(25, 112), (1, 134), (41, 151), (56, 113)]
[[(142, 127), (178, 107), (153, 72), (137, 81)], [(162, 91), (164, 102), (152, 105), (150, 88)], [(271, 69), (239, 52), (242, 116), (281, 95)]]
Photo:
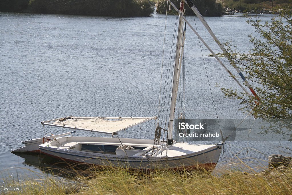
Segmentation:
[[(180, 1), (180, 12), (184, 12), (184, 0)], [(171, 105), (169, 113), (169, 122), (168, 122), (168, 136), (167, 136), (167, 145), (171, 146), (173, 144), (172, 131), (173, 131), (173, 120), (174, 120), (174, 111), (175, 111), (175, 102), (178, 94), (178, 84), (180, 79), (180, 67), (182, 63), (183, 56), (183, 18), (180, 14), (178, 22), (178, 36), (176, 39), (176, 48), (175, 48), (175, 60), (173, 67), (173, 82), (172, 82), (172, 92), (171, 92)]]

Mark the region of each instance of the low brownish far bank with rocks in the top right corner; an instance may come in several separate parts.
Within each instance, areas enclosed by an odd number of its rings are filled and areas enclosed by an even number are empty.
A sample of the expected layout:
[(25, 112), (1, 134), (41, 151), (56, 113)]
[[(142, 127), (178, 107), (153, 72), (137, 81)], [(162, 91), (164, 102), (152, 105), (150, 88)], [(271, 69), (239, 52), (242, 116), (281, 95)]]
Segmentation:
[(221, 0), (220, 2), (225, 8), (234, 8), (243, 13), (275, 7), (286, 8), (291, 4), (291, 0)]

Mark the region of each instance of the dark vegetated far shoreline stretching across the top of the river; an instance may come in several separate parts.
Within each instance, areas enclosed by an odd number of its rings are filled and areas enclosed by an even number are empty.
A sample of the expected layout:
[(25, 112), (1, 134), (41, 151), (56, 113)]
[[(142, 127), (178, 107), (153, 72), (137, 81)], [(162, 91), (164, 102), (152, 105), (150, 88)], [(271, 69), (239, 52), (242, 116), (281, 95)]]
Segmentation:
[[(286, 0), (283, 0), (286, 2)], [(288, 1), (288, 0), (287, 0)], [(172, 0), (179, 6), (180, 0)], [(202, 15), (222, 16), (234, 13), (266, 13), (274, 14), (274, 7), (285, 7), (287, 3), (273, 4), (272, 2), (242, 3), (241, 1), (196, 1), (196, 7)], [(156, 6), (156, 12), (166, 12), (166, 0), (10, 0), (0, 1), (1, 12), (17, 13), (45, 13), (45, 14), (67, 14), (67, 15), (95, 15), (95, 16), (117, 16), (136, 17), (151, 16)], [(187, 15), (194, 15), (193, 11), (185, 6)], [(176, 14), (172, 9), (170, 14)]]

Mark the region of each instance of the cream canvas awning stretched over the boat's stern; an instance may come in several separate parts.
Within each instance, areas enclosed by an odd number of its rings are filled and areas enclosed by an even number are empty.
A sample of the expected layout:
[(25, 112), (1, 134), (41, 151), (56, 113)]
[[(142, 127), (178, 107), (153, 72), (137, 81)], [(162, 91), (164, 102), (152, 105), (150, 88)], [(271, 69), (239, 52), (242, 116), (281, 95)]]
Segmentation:
[(41, 122), (43, 125), (112, 134), (157, 117), (65, 117)]

